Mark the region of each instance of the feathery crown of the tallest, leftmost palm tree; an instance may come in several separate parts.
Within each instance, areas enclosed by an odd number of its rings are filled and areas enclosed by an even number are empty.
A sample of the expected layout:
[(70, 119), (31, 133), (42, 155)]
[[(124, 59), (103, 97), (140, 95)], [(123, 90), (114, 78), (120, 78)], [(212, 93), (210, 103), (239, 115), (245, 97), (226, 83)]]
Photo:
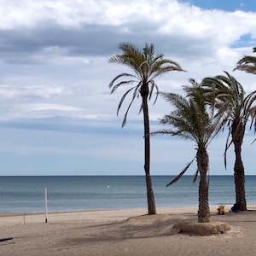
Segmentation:
[[(159, 88), (154, 79), (165, 73), (171, 71), (183, 71), (183, 69), (177, 62), (164, 58), (164, 55), (155, 55), (154, 44), (146, 44), (143, 50), (140, 50), (133, 44), (121, 43), (119, 44), (119, 49), (122, 50), (122, 54), (112, 56), (109, 59), (109, 62), (130, 67), (132, 73), (120, 73), (116, 76), (109, 84), (111, 93), (117, 90), (120, 86), (135, 84), (125, 92), (119, 102), (117, 114), (119, 113), (119, 109), (121, 108), (125, 97), (132, 92), (131, 103), (125, 112), (122, 124), (123, 127), (125, 126), (131, 104), (137, 97), (140, 95), (147, 96), (150, 100), (153, 91), (156, 90), (155, 101), (157, 100)], [(120, 81), (120, 79), (125, 80)], [(142, 109), (143, 105), (140, 108), (140, 112)]]

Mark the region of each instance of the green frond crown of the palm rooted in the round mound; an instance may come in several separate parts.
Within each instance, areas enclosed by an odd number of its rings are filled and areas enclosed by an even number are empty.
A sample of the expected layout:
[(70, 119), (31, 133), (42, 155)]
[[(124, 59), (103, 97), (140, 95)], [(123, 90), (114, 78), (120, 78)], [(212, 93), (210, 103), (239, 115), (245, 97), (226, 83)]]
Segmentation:
[[(188, 95), (161, 92), (166, 102), (172, 105), (172, 112), (160, 119), (160, 125), (171, 125), (172, 136), (189, 139), (196, 144), (208, 145), (224, 125), (223, 116), (214, 115), (204, 97), (204, 88), (195, 80), (189, 80), (190, 86), (183, 86)], [(168, 130), (160, 131), (166, 134)], [(157, 132), (156, 132), (157, 134)]]

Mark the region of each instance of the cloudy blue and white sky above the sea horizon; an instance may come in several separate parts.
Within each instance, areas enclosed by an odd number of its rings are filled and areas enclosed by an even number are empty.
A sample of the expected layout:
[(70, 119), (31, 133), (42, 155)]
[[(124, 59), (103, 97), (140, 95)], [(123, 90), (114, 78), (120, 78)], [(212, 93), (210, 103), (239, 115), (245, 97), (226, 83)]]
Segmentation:
[[(160, 90), (183, 93), (189, 79), (224, 71), (247, 93), (256, 88), (255, 75), (233, 71), (256, 46), (255, 0), (1, 0), (0, 176), (144, 175), (140, 102), (121, 128), (127, 102), (116, 111), (127, 88), (108, 89), (130, 72), (108, 62), (121, 42), (152, 43), (187, 71), (156, 79)], [(163, 99), (149, 102), (151, 131), (169, 112)], [(211, 175), (233, 174), (232, 147), (224, 168), (226, 135), (208, 148)], [(256, 175), (253, 139), (247, 131), (248, 175)], [(151, 138), (152, 175), (176, 175), (194, 156), (193, 142)]]

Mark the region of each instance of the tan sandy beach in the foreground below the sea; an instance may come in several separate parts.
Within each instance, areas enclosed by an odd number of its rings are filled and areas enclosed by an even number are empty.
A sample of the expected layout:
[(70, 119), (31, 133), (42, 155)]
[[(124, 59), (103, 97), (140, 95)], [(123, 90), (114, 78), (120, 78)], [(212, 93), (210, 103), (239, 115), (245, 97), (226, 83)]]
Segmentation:
[(0, 255), (256, 255), (256, 206), (218, 215), (211, 222), (231, 225), (213, 236), (178, 233), (173, 224), (197, 222), (196, 207), (0, 215)]

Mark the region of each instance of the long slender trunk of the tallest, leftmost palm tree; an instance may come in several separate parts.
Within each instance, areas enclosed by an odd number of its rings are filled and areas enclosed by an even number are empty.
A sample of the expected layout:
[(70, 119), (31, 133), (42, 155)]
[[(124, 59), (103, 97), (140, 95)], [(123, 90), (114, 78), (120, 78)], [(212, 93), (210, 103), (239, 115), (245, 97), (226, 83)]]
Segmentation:
[(156, 214), (153, 185), (150, 176), (150, 136), (149, 136), (149, 117), (148, 117), (148, 95), (143, 96), (143, 119), (144, 119), (144, 170), (146, 174), (148, 214)]

